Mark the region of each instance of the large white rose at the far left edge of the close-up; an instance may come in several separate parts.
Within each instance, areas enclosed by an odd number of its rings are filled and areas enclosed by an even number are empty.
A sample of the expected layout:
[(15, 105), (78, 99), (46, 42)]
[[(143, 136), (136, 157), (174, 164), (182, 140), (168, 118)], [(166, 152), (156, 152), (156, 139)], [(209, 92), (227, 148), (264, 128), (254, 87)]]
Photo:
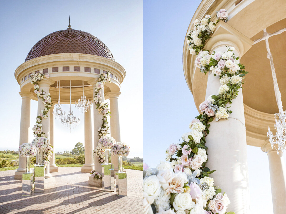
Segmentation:
[(160, 193), (161, 184), (156, 175), (150, 175), (143, 180), (143, 197), (149, 204), (154, 202), (156, 196)]

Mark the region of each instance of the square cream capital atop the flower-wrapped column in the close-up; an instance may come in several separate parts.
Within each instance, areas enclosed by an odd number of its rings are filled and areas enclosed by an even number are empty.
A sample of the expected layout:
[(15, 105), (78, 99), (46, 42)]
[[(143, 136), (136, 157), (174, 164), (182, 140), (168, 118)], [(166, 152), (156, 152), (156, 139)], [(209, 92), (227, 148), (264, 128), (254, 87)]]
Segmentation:
[(219, 21), (216, 29), (210, 38), (204, 49), (209, 50), (212, 53), (215, 49), (221, 46), (233, 46), (239, 52), (239, 56), (243, 56), (252, 46), (253, 41), (225, 23)]

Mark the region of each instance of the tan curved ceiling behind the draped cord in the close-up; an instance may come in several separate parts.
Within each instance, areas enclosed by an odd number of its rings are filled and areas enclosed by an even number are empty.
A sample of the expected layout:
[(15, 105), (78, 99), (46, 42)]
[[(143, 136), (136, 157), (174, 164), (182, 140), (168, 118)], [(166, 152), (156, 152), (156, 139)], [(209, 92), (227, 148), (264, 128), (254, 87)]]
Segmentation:
[[(269, 34), (286, 27), (283, 19), (266, 28)], [(252, 41), (262, 38), (263, 31), (251, 38)], [(286, 31), (269, 38), (269, 47), (273, 55), (273, 62), (277, 76), (282, 102), (286, 107)], [(273, 86), (273, 79), (265, 41), (253, 45), (241, 58), (245, 70), (249, 73), (243, 84), (243, 102), (258, 111), (274, 114), (278, 112)], [(285, 108), (284, 108), (285, 110)]]

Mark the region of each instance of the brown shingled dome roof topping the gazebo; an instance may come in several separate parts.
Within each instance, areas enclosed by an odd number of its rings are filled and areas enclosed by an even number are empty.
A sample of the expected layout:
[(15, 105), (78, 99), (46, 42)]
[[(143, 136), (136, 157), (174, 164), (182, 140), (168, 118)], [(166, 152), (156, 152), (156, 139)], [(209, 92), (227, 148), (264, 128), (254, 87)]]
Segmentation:
[(25, 62), (39, 56), (57, 53), (92, 54), (114, 60), (108, 47), (94, 35), (67, 29), (53, 32), (38, 41), (28, 53)]

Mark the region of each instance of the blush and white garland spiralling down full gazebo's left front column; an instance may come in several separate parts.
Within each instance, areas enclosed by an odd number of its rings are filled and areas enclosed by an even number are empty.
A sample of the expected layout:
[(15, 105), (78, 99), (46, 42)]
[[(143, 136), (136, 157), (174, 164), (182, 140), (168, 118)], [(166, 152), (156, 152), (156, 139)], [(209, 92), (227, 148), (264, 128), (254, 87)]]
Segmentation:
[(44, 103), (45, 109), (41, 110), (41, 113), (36, 118), (36, 124), (32, 128), (33, 135), (35, 139), (32, 141), (33, 144), (37, 147), (37, 149), (43, 150), (43, 163), (47, 165), (49, 163), (50, 157), (53, 153), (53, 146), (50, 145), (49, 139), (45, 136), (42, 128), (42, 119), (47, 119), (48, 112), (53, 105), (51, 102), (51, 94), (46, 94), (43, 90), (39, 90), (38, 83), (43, 80), (44, 78), (49, 78), (49, 74), (31, 74), (30, 80), (31, 83), (34, 85), (34, 93), (37, 94), (37, 98), (42, 98), (42, 102)]

